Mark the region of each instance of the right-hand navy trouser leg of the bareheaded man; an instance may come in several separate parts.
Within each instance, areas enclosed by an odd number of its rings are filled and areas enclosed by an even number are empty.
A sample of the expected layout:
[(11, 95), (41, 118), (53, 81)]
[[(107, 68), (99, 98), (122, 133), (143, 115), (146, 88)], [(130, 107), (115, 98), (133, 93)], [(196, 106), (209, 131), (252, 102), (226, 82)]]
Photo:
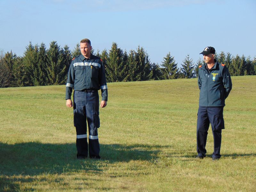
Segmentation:
[(98, 139), (98, 128), (100, 127), (99, 119), (99, 94), (98, 92), (86, 93), (86, 117), (89, 132), (89, 156), (100, 156), (100, 144)]

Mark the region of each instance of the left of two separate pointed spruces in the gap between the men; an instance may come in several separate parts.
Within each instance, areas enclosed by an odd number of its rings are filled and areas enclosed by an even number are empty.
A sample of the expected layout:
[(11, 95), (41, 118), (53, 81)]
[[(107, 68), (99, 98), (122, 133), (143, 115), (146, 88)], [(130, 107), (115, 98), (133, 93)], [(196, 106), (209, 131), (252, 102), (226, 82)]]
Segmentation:
[(162, 61), (163, 66), (163, 77), (164, 79), (176, 79), (177, 78), (177, 63), (175, 63), (174, 57), (171, 56), (169, 52), (166, 57), (164, 57), (164, 61)]

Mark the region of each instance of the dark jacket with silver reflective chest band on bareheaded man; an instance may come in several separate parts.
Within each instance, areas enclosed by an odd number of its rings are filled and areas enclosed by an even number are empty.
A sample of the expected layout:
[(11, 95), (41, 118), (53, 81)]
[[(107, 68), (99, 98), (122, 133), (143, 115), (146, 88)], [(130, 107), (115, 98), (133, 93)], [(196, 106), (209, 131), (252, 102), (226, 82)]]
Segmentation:
[(68, 70), (66, 100), (71, 99), (72, 89), (101, 90), (102, 100), (108, 101), (108, 87), (105, 67), (99, 57), (92, 55), (86, 59), (83, 55), (75, 57)]

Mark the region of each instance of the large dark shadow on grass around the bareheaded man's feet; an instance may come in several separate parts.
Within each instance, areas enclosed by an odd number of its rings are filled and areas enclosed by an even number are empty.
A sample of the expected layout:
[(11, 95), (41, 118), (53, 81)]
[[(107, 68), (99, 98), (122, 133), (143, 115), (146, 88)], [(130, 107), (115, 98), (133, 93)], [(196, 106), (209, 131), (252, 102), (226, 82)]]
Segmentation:
[(102, 171), (102, 164), (152, 160), (160, 149), (169, 146), (100, 144), (101, 160), (76, 159), (76, 144), (28, 142), (0, 143), (0, 175), (61, 174), (65, 172)]

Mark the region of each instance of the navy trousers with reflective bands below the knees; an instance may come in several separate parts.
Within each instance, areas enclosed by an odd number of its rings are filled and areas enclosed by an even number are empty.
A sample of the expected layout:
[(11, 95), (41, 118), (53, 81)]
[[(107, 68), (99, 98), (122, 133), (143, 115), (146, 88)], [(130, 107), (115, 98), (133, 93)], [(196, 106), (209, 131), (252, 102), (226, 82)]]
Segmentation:
[(77, 158), (88, 156), (87, 126), (89, 132), (89, 156), (100, 157), (100, 144), (98, 138), (99, 94), (98, 91), (74, 91), (74, 126), (76, 127)]

